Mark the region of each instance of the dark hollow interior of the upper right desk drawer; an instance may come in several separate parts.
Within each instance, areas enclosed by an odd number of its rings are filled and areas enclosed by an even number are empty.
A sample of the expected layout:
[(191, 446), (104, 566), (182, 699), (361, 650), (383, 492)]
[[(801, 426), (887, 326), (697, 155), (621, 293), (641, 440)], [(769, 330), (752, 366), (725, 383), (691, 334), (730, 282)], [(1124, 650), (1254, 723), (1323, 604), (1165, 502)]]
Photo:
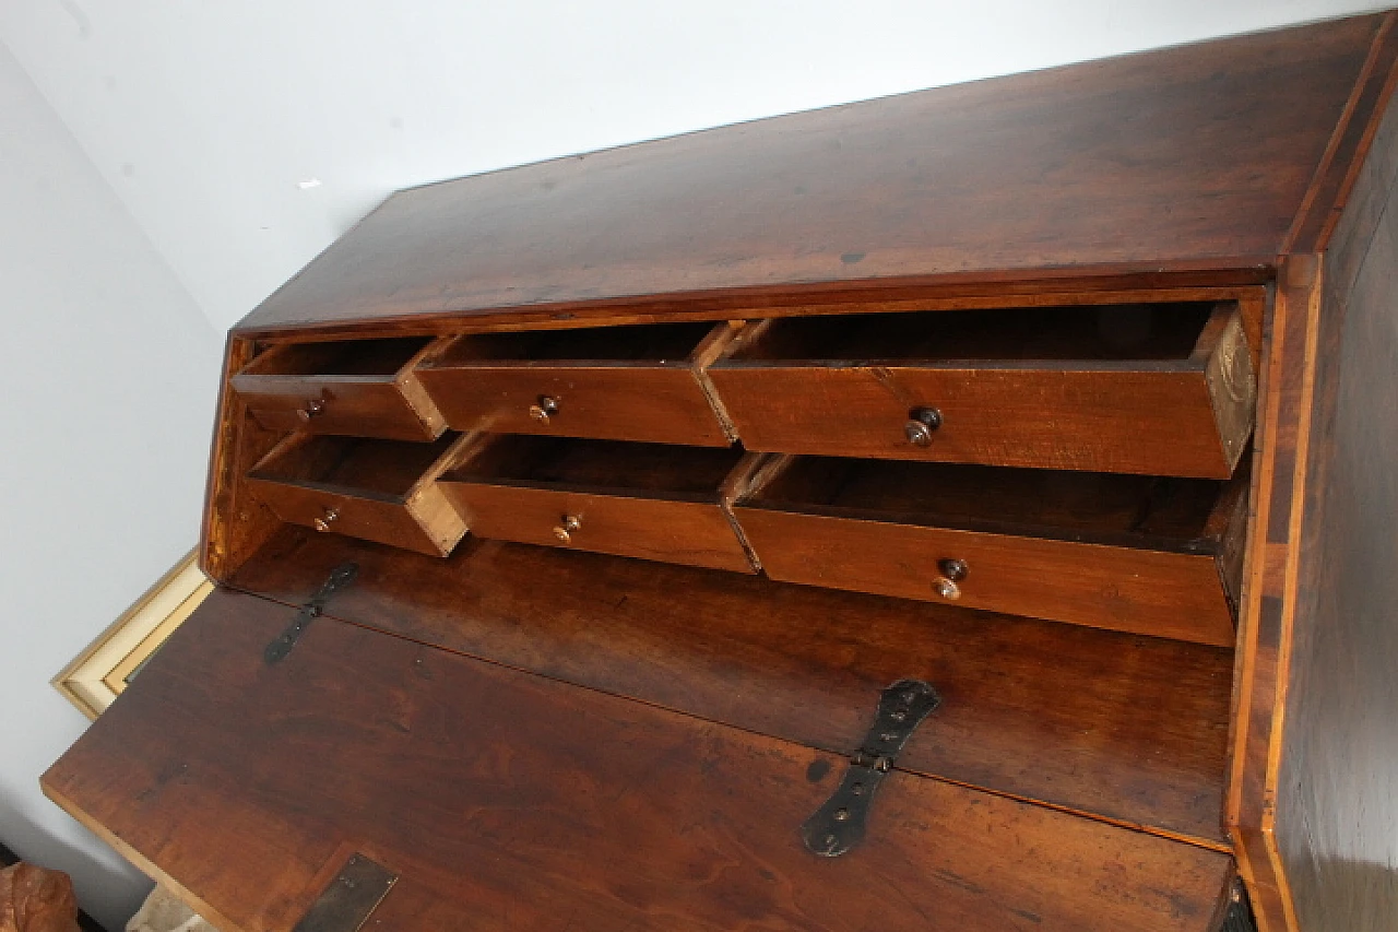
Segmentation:
[[(1213, 302), (780, 318), (717, 367), (839, 360), (1186, 360)], [(1227, 305), (1229, 308), (1232, 305)]]

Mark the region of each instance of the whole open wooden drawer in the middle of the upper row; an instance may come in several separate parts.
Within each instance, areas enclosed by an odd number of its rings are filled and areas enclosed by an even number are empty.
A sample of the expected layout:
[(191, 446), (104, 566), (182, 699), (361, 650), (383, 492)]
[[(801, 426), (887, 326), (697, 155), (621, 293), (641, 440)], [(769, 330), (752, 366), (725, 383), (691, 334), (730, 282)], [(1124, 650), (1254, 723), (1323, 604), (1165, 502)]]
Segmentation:
[(663, 323), (475, 333), (418, 367), (452, 430), (727, 446), (703, 365), (737, 332)]

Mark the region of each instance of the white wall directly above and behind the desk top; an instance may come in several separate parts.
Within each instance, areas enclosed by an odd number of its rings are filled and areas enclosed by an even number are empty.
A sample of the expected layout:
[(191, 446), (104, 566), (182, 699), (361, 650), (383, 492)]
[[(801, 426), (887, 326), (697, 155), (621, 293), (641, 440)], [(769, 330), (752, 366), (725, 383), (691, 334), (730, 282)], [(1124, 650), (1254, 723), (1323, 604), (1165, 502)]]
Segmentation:
[(222, 329), (396, 188), (1374, 6), (0, 0), (0, 39)]

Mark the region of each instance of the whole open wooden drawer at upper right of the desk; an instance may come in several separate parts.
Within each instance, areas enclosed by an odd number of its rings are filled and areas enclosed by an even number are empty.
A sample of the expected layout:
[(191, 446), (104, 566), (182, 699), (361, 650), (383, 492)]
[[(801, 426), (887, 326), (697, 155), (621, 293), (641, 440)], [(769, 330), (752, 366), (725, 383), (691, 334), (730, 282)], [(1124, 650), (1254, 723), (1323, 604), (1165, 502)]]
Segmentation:
[(707, 369), (748, 449), (1227, 479), (1236, 302), (786, 318)]

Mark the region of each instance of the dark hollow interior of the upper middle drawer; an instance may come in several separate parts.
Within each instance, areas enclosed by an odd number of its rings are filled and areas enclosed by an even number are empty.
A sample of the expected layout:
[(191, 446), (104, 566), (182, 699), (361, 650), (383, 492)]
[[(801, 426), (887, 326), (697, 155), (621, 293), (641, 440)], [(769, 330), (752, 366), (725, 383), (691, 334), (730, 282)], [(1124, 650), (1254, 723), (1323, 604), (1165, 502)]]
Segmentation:
[(713, 323), (656, 323), (576, 330), (473, 333), (452, 341), (426, 368), (530, 361), (685, 362)]

